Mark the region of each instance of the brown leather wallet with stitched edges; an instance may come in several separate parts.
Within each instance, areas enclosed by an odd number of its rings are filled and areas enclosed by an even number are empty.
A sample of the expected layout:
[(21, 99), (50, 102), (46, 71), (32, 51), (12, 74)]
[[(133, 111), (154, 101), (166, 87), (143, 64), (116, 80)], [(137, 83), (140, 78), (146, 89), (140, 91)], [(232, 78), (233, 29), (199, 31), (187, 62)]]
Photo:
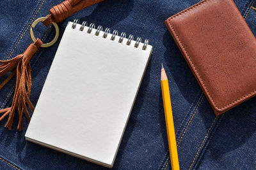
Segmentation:
[(256, 39), (232, 0), (205, 0), (165, 21), (214, 113), (256, 94)]

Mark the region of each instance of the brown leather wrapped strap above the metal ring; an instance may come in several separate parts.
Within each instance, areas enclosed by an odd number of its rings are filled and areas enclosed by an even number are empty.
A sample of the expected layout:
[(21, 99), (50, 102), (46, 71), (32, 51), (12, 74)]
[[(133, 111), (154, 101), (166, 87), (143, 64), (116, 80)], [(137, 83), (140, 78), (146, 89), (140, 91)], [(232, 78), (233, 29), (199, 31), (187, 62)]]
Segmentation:
[(50, 14), (47, 15), (42, 22), (45, 26), (50, 25), (53, 21), (56, 23), (62, 22), (77, 11), (83, 10), (87, 6), (91, 6), (101, 1), (104, 0), (66, 0), (63, 3), (53, 6), (50, 10)]

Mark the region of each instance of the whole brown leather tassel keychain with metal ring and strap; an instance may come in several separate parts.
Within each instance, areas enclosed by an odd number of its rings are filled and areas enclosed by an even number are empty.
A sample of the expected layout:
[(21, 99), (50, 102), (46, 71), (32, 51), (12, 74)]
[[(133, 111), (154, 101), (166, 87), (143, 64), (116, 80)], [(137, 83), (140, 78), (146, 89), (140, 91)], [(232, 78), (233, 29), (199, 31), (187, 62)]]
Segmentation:
[[(13, 95), (12, 106), (10, 108), (5, 108), (0, 110), (0, 121), (3, 120), (8, 115), (8, 120), (6, 122), (5, 127), (7, 127), (10, 131), (12, 130), (13, 118), (17, 113), (19, 122), (17, 125), (17, 129), (22, 131), (23, 115), (26, 115), (27, 120), (30, 120), (30, 116), (28, 113), (27, 106), (31, 109), (31, 111), (35, 110), (35, 107), (31, 103), (29, 97), (31, 95), (31, 67), (30, 60), (35, 55), (39, 47), (47, 47), (53, 45), (58, 39), (58, 25), (56, 23), (62, 22), (67, 17), (70, 17), (77, 11), (83, 10), (87, 6), (91, 6), (92, 4), (99, 3), (104, 0), (66, 0), (63, 3), (53, 6), (50, 10), (50, 14), (47, 17), (38, 18), (31, 24), (30, 34), (31, 39), (34, 41), (31, 45), (28, 46), (26, 51), (13, 59), (10, 60), (0, 60), (0, 76), (4, 76), (10, 72), (10, 76), (6, 78), (0, 85), (0, 90), (10, 81), (13, 76), (16, 74), (16, 85), (15, 92)], [(43, 22), (45, 26), (50, 24), (54, 25), (56, 29), (56, 36), (51, 41), (51, 43), (42, 43), (40, 39), (36, 39), (33, 34), (33, 28), (38, 22)]]

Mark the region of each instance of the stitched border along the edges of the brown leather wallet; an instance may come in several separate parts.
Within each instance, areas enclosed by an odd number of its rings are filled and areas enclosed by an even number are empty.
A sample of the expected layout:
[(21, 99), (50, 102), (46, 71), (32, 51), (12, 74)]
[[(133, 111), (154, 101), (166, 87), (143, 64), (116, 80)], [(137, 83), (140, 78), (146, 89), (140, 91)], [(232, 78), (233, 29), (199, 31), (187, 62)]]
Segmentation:
[(195, 6), (191, 6), (191, 7), (188, 8), (187, 10), (184, 10), (184, 11), (182, 11), (182, 12), (180, 12), (180, 13), (177, 13), (176, 15), (173, 15), (173, 17), (170, 17), (170, 18), (168, 19), (168, 21), (169, 21), (169, 24), (170, 24), (170, 26), (171, 26), (171, 28), (172, 28), (172, 31), (173, 31), (174, 34), (175, 34), (175, 37), (178, 39), (180, 45), (182, 46), (182, 49), (183, 49), (184, 52), (186, 53), (186, 55), (187, 55), (189, 61), (191, 62), (192, 67), (193, 67), (193, 69), (194, 69), (196, 75), (198, 76), (198, 78), (199, 78), (200, 81), (202, 82), (202, 84), (203, 84), (203, 86), (204, 86), (204, 89), (205, 89), (205, 92), (206, 92), (206, 93), (208, 94), (208, 96), (211, 98), (214, 107), (215, 107), (218, 111), (223, 111), (223, 110), (225, 110), (226, 108), (228, 108), (228, 107), (230, 107), (230, 106), (233, 106), (233, 105), (236, 104), (236, 103), (239, 103), (239, 101), (241, 101), (242, 99), (246, 99), (247, 97), (252, 96), (253, 94), (255, 94), (256, 90), (254, 90), (254, 91), (252, 91), (252, 92), (246, 94), (246, 95), (243, 96), (243, 97), (240, 97), (239, 99), (236, 99), (236, 101), (234, 101), (234, 102), (232, 102), (232, 103), (230, 103), (230, 104), (227, 104), (226, 106), (223, 106), (223, 107), (219, 108), (219, 107), (216, 105), (216, 103), (214, 102), (214, 100), (212, 99), (210, 93), (209, 93), (208, 90), (207, 90), (207, 87), (206, 87), (205, 84), (204, 84), (204, 81), (203, 81), (202, 78), (200, 77), (200, 74), (198, 73), (198, 71), (196, 70), (196, 67), (195, 67), (194, 64), (193, 64), (193, 61), (192, 61), (191, 58), (189, 57), (188, 52), (186, 51), (186, 48), (184, 48), (182, 42), (181, 42), (180, 39), (179, 39), (179, 36), (177, 35), (177, 32), (173, 29), (173, 26), (172, 26), (172, 24), (171, 24), (171, 20), (172, 20), (173, 18), (179, 17), (179, 15), (183, 15), (183, 14), (186, 13), (187, 11), (193, 10), (194, 8), (197, 8), (198, 6), (200, 6), (200, 5), (204, 4), (204, 3), (206, 3), (207, 1), (210, 1), (210, 0), (205, 0), (205, 1), (202, 1), (201, 3), (196, 4)]

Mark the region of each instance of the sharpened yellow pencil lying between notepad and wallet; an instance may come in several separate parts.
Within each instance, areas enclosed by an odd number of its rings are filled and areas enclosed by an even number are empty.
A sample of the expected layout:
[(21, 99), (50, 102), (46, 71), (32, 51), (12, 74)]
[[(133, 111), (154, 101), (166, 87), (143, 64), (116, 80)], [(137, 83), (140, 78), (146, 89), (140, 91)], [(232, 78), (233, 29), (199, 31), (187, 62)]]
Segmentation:
[(179, 167), (179, 158), (178, 158), (174, 124), (173, 124), (172, 104), (171, 104), (171, 98), (170, 98), (168, 79), (164, 71), (163, 63), (162, 63), (162, 69), (161, 69), (161, 89), (162, 89), (162, 96), (163, 96), (163, 103), (164, 103), (164, 115), (165, 115), (166, 131), (167, 131), (167, 137), (168, 137), (168, 145), (170, 150), (172, 170), (177, 170), (177, 169), (180, 169), (180, 167)]

